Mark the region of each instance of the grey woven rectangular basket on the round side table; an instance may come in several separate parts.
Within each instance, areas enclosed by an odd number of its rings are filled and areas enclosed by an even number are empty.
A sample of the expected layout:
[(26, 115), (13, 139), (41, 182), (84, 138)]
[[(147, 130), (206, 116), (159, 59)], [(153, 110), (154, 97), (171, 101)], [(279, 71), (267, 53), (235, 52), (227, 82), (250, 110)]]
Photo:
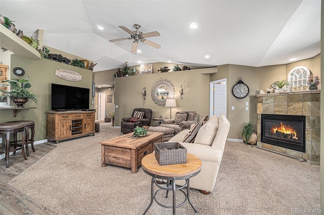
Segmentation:
[(159, 165), (187, 163), (187, 149), (178, 142), (155, 143), (155, 158)]

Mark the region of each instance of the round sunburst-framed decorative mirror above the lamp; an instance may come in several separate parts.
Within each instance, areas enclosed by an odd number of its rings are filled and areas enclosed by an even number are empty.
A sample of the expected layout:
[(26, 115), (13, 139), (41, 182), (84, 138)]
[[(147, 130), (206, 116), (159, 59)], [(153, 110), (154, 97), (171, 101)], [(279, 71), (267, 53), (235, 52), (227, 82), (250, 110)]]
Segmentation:
[(166, 104), (167, 98), (174, 97), (174, 86), (170, 81), (160, 80), (157, 81), (151, 90), (151, 96), (154, 101), (159, 106), (164, 106)]

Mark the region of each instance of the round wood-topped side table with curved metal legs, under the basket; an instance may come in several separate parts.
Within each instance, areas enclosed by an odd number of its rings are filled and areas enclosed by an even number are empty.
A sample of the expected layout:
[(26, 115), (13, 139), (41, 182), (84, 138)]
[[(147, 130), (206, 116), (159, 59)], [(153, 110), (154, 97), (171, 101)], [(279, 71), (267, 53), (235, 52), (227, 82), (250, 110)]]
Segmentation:
[[(154, 153), (148, 154), (147, 156), (143, 157), (142, 159), (142, 169), (143, 171), (152, 176), (151, 181), (151, 202), (146, 208), (145, 212), (143, 214), (146, 214), (148, 209), (151, 207), (153, 203), (153, 199), (156, 203), (158, 203), (160, 206), (167, 207), (167, 208), (173, 208), (173, 214), (176, 214), (176, 207), (182, 206), (186, 200), (188, 199), (188, 202), (194, 209), (194, 211), (197, 213), (197, 209), (193, 206), (193, 204), (190, 201), (189, 196), (189, 189), (190, 189), (190, 178), (194, 177), (200, 172), (201, 169), (201, 160), (196, 157), (193, 154), (187, 154), (187, 163), (186, 164), (175, 164), (175, 165), (164, 165), (160, 166), (155, 158)], [(167, 180), (167, 186), (161, 186), (156, 182), (156, 179), (165, 179)], [(186, 183), (183, 186), (176, 187), (176, 180), (186, 180)], [(154, 184), (159, 187), (159, 189), (154, 193)], [(172, 185), (172, 186), (170, 186)], [(182, 188), (187, 186), (187, 193), (185, 193)], [(156, 199), (156, 194), (161, 191), (166, 190), (167, 194), (166, 197), (168, 197), (169, 191), (173, 192), (173, 205), (164, 205), (161, 204)], [(176, 205), (176, 190), (180, 190), (185, 195), (185, 200)]]

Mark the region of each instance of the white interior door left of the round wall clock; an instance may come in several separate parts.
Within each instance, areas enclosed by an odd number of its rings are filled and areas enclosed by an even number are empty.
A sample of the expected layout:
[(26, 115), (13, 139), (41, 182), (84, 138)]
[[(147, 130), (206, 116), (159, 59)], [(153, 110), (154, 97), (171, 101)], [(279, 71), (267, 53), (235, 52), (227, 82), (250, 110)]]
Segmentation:
[(210, 83), (210, 117), (221, 114), (226, 116), (226, 83), (226, 79)]

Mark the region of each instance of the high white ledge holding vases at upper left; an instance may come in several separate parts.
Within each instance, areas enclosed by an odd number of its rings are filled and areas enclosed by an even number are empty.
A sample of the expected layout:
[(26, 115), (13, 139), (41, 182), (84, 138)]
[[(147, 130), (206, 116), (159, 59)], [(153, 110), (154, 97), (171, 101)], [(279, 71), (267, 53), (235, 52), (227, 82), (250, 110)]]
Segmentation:
[(41, 54), (8, 28), (0, 25), (0, 46), (14, 52), (15, 56), (39, 60)]

